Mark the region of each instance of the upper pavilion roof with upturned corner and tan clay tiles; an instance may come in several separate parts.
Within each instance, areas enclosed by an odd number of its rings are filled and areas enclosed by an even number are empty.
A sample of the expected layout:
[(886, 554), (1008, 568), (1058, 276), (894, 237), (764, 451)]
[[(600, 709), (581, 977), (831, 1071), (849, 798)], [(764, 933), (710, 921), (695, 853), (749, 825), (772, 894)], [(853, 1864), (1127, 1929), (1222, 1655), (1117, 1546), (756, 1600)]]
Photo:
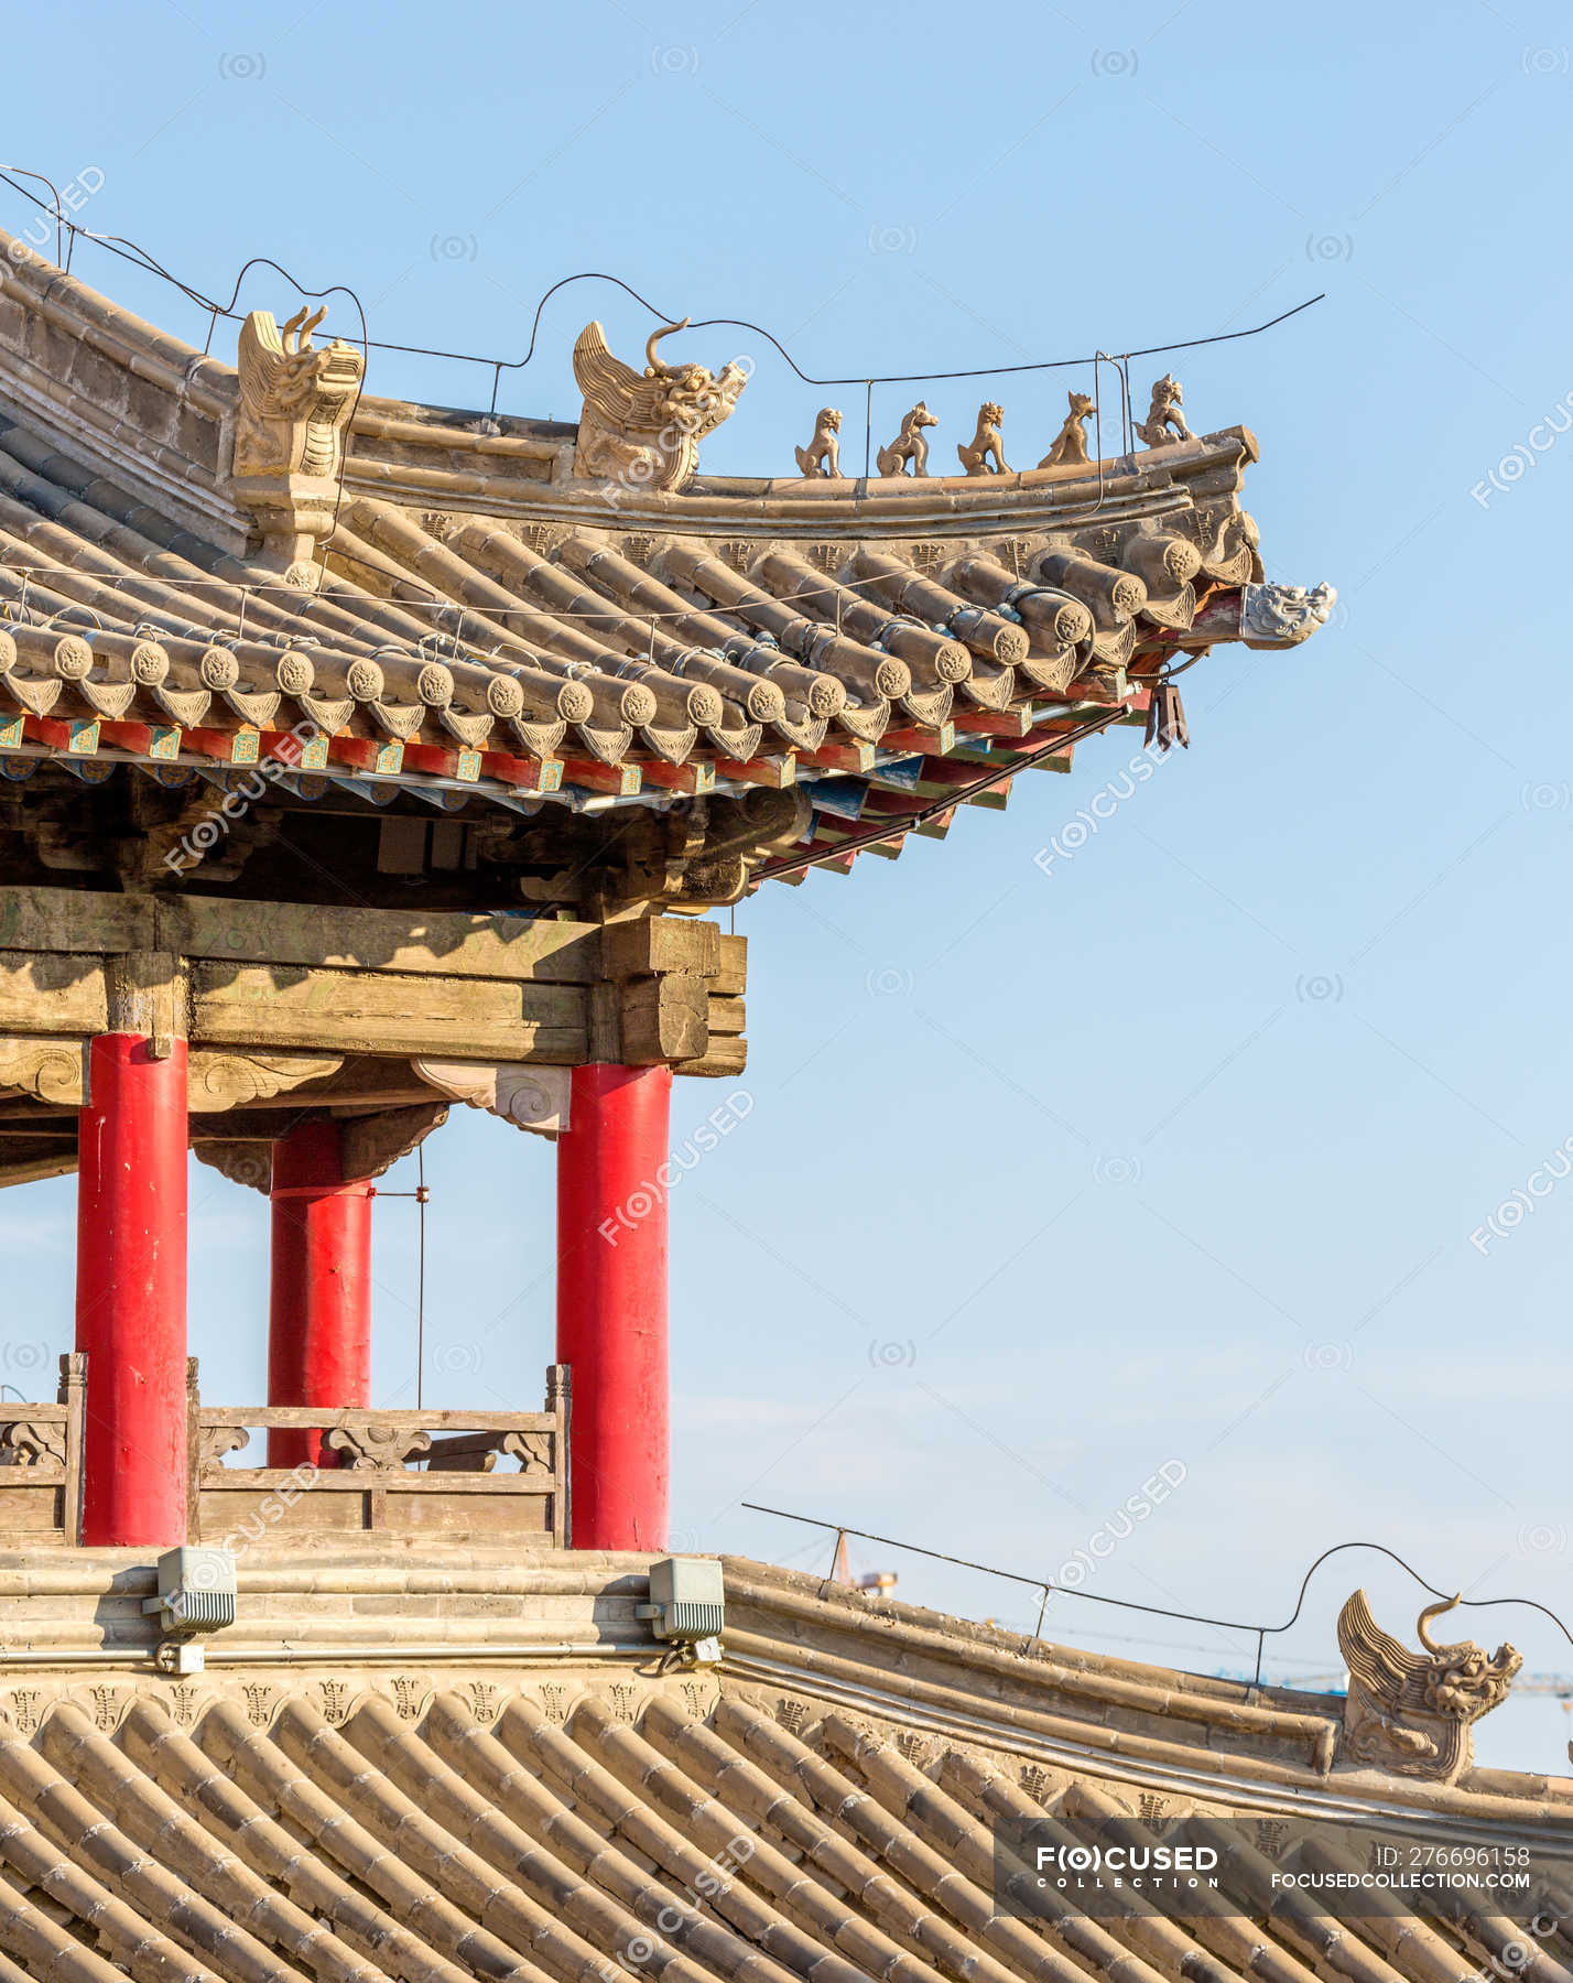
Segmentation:
[(466, 817), (797, 787), (764, 873), (847, 867), (1147, 722), (1176, 658), (1325, 619), (1262, 585), (1238, 426), (1020, 474), (649, 488), (583, 474), (573, 426), (365, 395), (315, 575), (270, 569), (232, 476), (240, 373), (0, 266), (12, 777), (274, 758), (302, 801)]

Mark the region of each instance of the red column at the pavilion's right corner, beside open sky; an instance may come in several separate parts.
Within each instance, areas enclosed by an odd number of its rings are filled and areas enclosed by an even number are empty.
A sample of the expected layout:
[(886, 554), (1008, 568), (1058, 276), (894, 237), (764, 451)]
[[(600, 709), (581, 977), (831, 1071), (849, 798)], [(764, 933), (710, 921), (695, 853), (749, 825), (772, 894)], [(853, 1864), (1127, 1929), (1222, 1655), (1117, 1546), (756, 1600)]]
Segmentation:
[(575, 1067), (557, 1146), (557, 1360), (575, 1549), (665, 1549), (668, 1067)]

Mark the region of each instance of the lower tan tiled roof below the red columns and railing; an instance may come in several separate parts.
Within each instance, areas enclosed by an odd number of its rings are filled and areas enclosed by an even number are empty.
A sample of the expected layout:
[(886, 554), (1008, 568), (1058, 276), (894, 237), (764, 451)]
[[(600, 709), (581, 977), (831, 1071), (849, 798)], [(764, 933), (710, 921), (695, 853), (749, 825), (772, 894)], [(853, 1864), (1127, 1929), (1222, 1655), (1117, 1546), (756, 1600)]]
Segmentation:
[[(238, 1636), (182, 1680), (133, 1654), (151, 1573), (129, 1553), (0, 1563), (0, 1979), (1468, 1983), (1496, 1955), (1565, 1983), (1569, 1785), (1341, 1769), (1327, 1697), (1029, 1650), (740, 1561), (722, 1664), (684, 1670), (637, 1620), (647, 1571), (254, 1551)], [(1091, 1852), (1180, 1814), (1226, 1848), (1214, 1904), (1105, 1916), (996, 1858), (1022, 1826)], [(1529, 1842), (1533, 1890), (1333, 1931), (1273, 1874), (1337, 1866), (1349, 1824)]]

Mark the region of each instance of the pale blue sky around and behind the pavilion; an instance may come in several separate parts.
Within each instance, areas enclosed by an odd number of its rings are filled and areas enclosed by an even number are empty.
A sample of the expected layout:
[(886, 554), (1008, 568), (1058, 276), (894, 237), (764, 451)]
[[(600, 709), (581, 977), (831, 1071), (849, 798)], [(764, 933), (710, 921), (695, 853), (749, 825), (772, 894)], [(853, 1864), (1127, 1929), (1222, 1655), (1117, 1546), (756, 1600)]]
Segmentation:
[[(1573, 1618), (1573, 1180), (1533, 1196), (1573, 1136), (1571, 38), (1549, 0), (12, 12), (10, 163), (97, 167), (81, 218), (208, 293), (266, 254), (351, 286), (391, 341), (522, 355), (575, 270), (833, 375), (1156, 345), (1327, 292), (1260, 339), (1141, 361), (1137, 387), (1172, 363), (1198, 432), (1258, 432), (1270, 577), (1333, 581), (1335, 623), (1194, 668), (1192, 750), (1049, 876), (1033, 853), (1127, 744), (944, 845), (738, 910), (754, 1107), (672, 1206), (682, 1545), (829, 1561), (740, 1507), (762, 1501), (1053, 1575), (1174, 1461), (1087, 1588), (1275, 1622), (1363, 1537)], [(77, 274), (202, 341), (179, 293), (93, 252)], [(294, 307), (268, 272), (244, 305)], [(567, 290), (504, 410), (575, 416), (591, 315), (627, 353), (649, 329)], [(748, 333), (684, 347), (740, 351), (758, 373), (706, 466), (789, 472), (825, 395)], [(988, 385), (1008, 452), (1047, 448), (1071, 385)], [(369, 389), (486, 405), (490, 373), (377, 357)], [(950, 458), (984, 393), (926, 397)], [(861, 454), (859, 393), (835, 399)], [(877, 393), (877, 428), (908, 401)], [(676, 1136), (726, 1093), (678, 1083)], [(532, 1400), (551, 1148), (456, 1110), (426, 1176), (424, 1396)], [(204, 1392), (260, 1400), (266, 1206), (196, 1166), (192, 1208)], [(69, 1344), (71, 1220), (69, 1180), (0, 1206), (0, 1376), (28, 1396)], [(403, 1404), (405, 1200), (377, 1210), (377, 1283), (375, 1402)], [(853, 1561), (1035, 1616), (1010, 1584)], [(1337, 1672), (1357, 1582), (1408, 1636), (1414, 1586), (1345, 1555), (1270, 1674)], [(1573, 1670), (1545, 1620), (1466, 1616)], [(1069, 1598), (1047, 1630), (1200, 1670), (1254, 1652)], [(1567, 1721), (1510, 1703), (1480, 1753), (1565, 1769)]]

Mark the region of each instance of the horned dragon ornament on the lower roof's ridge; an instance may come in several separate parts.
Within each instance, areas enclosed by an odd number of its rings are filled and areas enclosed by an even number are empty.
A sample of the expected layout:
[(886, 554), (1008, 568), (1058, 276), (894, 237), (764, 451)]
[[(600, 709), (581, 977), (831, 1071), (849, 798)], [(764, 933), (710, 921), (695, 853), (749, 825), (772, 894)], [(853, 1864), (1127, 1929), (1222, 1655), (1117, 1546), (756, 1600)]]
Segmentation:
[(1523, 1654), (1508, 1644), (1488, 1654), (1468, 1638), (1438, 1646), (1430, 1620), (1454, 1604), (1456, 1596), (1442, 1598), (1420, 1612), (1414, 1636), (1426, 1648), (1422, 1654), (1383, 1632), (1365, 1590), (1343, 1606), (1339, 1650), (1349, 1666), (1345, 1761), (1436, 1783), (1454, 1783), (1470, 1767), (1470, 1727), (1508, 1699)]

